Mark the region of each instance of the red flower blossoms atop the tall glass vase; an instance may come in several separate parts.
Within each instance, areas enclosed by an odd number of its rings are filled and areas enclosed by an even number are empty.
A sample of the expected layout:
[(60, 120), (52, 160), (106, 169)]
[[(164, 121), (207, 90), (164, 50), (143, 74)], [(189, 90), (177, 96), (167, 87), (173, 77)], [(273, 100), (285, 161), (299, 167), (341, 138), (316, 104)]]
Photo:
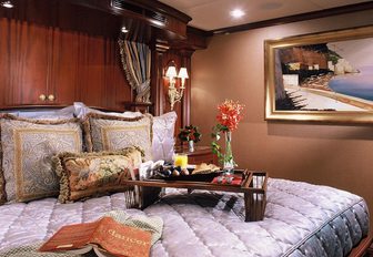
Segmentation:
[(225, 100), (224, 103), (218, 106), (219, 114), (218, 122), (225, 126), (228, 130), (233, 131), (238, 127), (239, 122), (242, 120), (242, 110), (244, 105), (232, 100)]

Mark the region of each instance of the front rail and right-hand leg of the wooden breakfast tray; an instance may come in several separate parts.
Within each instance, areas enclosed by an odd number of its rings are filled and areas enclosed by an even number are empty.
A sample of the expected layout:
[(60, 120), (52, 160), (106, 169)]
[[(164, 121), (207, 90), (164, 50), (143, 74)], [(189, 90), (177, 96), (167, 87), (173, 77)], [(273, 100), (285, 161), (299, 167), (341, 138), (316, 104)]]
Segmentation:
[[(268, 173), (248, 169), (236, 169), (235, 175), (241, 175), (240, 184), (219, 184), (198, 181), (165, 181), (161, 178), (148, 178), (143, 181), (128, 181), (130, 185), (141, 187), (174, 187), (193, 189), (221, 191), (243, 193), (245, 206), (245, 222), (262, 220), (266, 204)], [(192, 176), (192, 175), (190, 175)]]

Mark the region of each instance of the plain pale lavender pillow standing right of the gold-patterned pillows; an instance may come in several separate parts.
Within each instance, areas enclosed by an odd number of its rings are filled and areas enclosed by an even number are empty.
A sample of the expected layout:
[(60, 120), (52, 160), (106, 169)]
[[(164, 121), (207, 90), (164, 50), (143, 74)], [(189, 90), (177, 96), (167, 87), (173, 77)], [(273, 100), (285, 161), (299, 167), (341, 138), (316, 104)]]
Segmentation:
[(175, 112), (169, 112), (153, 117), (153, 161), (172, 161), (175, 144), (173, 135), (177, 119), (178, 114)]

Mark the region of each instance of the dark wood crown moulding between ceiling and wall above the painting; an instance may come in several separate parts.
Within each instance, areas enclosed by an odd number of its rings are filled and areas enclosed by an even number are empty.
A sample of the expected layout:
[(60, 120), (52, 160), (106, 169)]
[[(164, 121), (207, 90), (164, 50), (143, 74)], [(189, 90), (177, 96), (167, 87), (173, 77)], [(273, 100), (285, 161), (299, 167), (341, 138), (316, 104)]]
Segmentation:
[(330, 9), (324, 9), (320, 11), (305, 12), (305, 13), (300, 13), (300, 14), (294, 14), (294, 16), (289, 16), (289, 17), (281, 17), (281, 18), (275, 18), (275, 19), (270, 19), (270, 20), (264, 20), (264, 21), (246, 23), (242, 25), (226, 27), (226, 28), (221, 28), (216, 30), (210, 30), (209, 32), (213, 34), (234, 33), (234, 32), (240, 32), (244, 30), (253, 30), (253, 29), (260, 29), (260, 28), (265, 28), (265, 27), (271, 27), (271, 25), (280, 25), (280, 24), (285, 24), (285, 23), (291, 23), (291, 22), (296, 22), (296, 21), (312, 20), (312, 19), (325, 18), (325, 17), (331, 17), (331, 16), (345, 14), (350, 12), (365, 11), (370, 9), (373, 9), (372, 1), (356, 3), (356, 4), (349, 4), (349, 6), (343, 6), (343, 7), (336, 7), (336, 8), (330, 8)]

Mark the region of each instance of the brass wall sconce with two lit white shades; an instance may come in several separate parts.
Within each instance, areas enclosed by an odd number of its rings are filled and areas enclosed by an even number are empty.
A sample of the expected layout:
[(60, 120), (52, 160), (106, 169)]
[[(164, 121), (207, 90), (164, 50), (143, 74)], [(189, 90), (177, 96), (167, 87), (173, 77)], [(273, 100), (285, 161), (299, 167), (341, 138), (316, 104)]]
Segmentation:
[[(165, 76), (170, 80), (169, 85), (169, 99), (171, 104), (171, 110), (173, 110), (173, 105), (175, 102), (181, 102), (181, 99), (184, 93), (185, 89), (185, 79), (189, 79), (186, 68), (180, 68), (179, 74), (177, 71), (177, 65), (174, 61), (171, 61), (171, 63), (168, 66), (168, 70), (165, 72)], [(179, 89), (175, 88), (175, 79), (181, 79), (181, 86)]]

